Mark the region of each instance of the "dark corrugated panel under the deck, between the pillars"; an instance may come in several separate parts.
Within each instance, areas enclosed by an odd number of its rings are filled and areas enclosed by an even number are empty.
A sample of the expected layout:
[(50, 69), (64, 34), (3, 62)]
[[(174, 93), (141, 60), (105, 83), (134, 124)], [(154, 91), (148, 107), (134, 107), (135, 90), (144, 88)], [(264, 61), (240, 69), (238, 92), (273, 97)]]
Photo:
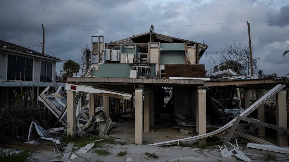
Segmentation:
[(175, 114), (192, 117), (191, 91), (186, 87), (174, 88), (174, 110)]

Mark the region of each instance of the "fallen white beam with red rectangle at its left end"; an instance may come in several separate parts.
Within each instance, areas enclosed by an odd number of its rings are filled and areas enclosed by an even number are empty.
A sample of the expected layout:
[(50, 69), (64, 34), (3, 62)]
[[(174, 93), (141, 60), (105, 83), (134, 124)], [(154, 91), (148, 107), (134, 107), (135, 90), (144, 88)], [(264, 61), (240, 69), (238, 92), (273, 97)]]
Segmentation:
[(75, 92), (83, 91), (83, 92), (88, 92), (88, 93), (93, 93), (93, 94), (100, 94), (103, 96), (120, 98), (124, 100), (131, 100), (131, 94), (118, 92), (118, 91), (112, 91), (108, 89), (97, 88), (97, 87), (91, 87), (91, 86), (86, 86), (86, 85), (66, 83), (65, 89), (69, 91), (75, 91)]

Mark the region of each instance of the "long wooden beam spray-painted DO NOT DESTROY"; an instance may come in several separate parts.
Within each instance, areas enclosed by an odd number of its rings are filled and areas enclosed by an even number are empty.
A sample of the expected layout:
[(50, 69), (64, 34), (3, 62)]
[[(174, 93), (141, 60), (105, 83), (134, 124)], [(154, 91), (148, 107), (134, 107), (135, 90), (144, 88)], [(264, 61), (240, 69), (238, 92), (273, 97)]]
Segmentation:
[[(161, 84), (161, 85), (203, 85), (204, 80), (190, 79), (165, 79), (165, 78), (93, 78), (93, 77), (70, 77), (67, 82), (94, 82), (94, 83), (143, 83), (143, 84)], [(67, 86), (68, 83), (66, 83)], [(68, 87), (66, 87), (68, 88)], [(70, 87), (69, 89), (70, 90)]]

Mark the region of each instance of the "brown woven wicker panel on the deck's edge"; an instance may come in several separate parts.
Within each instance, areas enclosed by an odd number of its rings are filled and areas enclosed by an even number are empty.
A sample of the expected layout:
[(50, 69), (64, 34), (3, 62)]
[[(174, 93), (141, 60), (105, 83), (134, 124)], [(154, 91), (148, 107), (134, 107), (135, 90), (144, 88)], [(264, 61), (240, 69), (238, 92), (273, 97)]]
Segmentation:
[(165, 78), (174, 77), (203, 77), (205, 65), (165, 64)]

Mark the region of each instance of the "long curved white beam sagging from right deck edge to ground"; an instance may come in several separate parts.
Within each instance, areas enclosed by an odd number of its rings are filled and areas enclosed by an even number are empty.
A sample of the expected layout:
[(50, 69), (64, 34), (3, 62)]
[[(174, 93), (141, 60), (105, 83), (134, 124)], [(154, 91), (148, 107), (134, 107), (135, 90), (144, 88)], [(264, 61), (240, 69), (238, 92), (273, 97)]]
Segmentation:
[[(283, 88), (285, 88), (284, 84), (278, 84), (276, 85), (274, 88), (272, 88), (269, 92), (267, 92), (264, 96), (262, 96), (259, 100), (257, 100), (255, 103), (253, 103), (249, 108), (247, 108), (245, 111), (243, 111), (240, 116), (241, 117), (246, 117), (247, 115), (249, 115), (251, 112), (253, 112), (254, 110), (256, 110), (262, 103), (264, 103), (265, 101), (267, 101), (271, 96), (275, 95), (278, 91), (282, 90)], [(197, 135), (197, 136), (193, 136), (193, 137), (188, 137), (188, 138), (182, 138), (182, 139), (178, 139), (178, 140), (171, 140), (171, 141), (166, 141), (166, 142), (158, 142), (158, 143), (153, 143), (150, 144), (150, 146), (154, 146), (154, 145), (166, 145), (166, 144), (172, 144), (172, 143), (177, 143), (177, 142), (188, 142), (191, 140), (198, 140), (198, 139), (202, 139), (202, 138), (207, 138), (210, 137), (212, 135), (221, 133), (227, 129), (229, 129), (231, 126), (233, 126), (234, 122), (236, 121), (236, 118), (232, 119), (231, 121), (229, 121), (226, 125), (222, 126), (221, 128), (217, 129), (216, 131), (212, 131), (210, 133), (206, 133), (206, 134), (202, 134), (202, 135)]]

